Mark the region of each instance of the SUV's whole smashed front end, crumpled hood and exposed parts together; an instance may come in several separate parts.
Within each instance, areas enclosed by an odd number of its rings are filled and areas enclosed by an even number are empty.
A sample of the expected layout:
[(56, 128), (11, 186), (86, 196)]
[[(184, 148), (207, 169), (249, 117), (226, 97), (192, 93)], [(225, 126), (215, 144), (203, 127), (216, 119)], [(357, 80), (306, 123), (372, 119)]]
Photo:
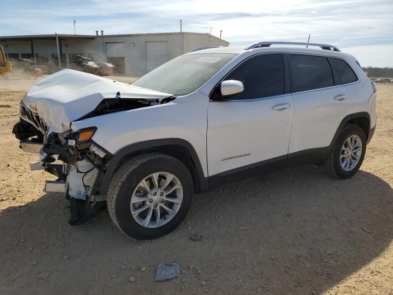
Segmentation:
[[(31, 170), (44, 169), (57, 177), (46, 181), (45, 191), (63, 193), (70, 200), (69, 222), (76, 225), (94, 208), (106, 204), (107, 192), (101, 192), (101, 185), (113, 157), (100, 145), (110, 131), (90, 126), (89, 120), (102, 116), (105, 122), (105, 116), (113, 113), (173, 99), (173, 94), (65, 69), (29, 89), (20, 103), (20, 121), (13, 133), (21, 149), (39, 154), (39, 161), (30, 163)], [(81, 127), (72, 129), (73, 123)]]

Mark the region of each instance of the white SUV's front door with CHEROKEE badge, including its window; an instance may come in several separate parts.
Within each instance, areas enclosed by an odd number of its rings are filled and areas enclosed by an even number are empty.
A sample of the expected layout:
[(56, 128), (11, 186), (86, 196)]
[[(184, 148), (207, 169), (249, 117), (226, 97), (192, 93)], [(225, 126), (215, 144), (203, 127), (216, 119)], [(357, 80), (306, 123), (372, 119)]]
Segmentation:
[(286, 93), (285, 68), (281, 53), (250, 57), (224, 78), (242, 81), (244, 91), (230, 100), (209, 101), (207, 154), (211, 185), (285, 164), (295, 112), (292, 96)]

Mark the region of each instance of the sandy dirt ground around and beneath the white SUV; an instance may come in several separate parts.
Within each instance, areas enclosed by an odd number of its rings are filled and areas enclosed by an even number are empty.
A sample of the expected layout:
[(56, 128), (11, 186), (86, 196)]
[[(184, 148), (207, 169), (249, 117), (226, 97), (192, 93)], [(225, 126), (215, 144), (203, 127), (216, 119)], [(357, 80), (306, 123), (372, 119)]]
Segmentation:
[[(375, 135), (351, 179), (301, 166), (230, 183), (195, 195), (171, 234), (136, 241), (106, 210), (68, 225), (68, 201), (42, 192), (53, 177), (29, 171), (37, 155), (11, 134), (34, 83), (0, 80), (0, 294), (393, 294), (393, 85), (377, 85)], [(179, 277), (154, 282), (163, 262)]]

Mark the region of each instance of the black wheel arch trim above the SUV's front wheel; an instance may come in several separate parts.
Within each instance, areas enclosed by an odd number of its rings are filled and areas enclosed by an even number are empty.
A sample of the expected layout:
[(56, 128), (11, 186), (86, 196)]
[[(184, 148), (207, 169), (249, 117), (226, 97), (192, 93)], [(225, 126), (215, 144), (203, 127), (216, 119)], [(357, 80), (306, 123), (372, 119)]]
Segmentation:
[[(200, 163), (200, 159), (196, 154), (194, 147), (187, 141), (181, 138), (163, 138), (163, 139), (155, 139), (148, 140), (143, 142), (136, 142), (134, 144), (130, 144), (129, 146), (122, 147), (119, 151), (117, 151), (112, 159), (110, 160), (105, 175), (103, 177), (103, 182), (100, 189), (99, 195), (106, 195), (108, 192), (110, 181), (114, 173), (116, 173), (116, 169), (119, 168), (118, 165), (121, 161), (129, 156), (132, 153), (136, 153), (138, 151), (143, 152), (143, 150), (154, 149), (163, 146), (180, 146), (185, 148), (192, 161), (195, 165), (195, 173), (196, 179), (194, 180), (195, 192), (200, 192), (203, 190), (207, 190), (209, 188), (209, 180), (208, 177), (204, 176), (202, 165)], [(192, 174), (192, 171), (190, 171)]]

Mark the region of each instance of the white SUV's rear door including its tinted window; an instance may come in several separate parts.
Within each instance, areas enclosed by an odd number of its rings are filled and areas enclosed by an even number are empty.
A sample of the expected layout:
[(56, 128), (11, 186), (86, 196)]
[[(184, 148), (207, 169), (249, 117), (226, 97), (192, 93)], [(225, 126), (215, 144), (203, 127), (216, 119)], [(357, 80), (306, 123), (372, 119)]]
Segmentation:
[(351, 114), (351, 98), (340, 85), (329, 57), (297, 53), (287, 56), (296, 109), (288, 152), (327, 147), (343, 118)]

